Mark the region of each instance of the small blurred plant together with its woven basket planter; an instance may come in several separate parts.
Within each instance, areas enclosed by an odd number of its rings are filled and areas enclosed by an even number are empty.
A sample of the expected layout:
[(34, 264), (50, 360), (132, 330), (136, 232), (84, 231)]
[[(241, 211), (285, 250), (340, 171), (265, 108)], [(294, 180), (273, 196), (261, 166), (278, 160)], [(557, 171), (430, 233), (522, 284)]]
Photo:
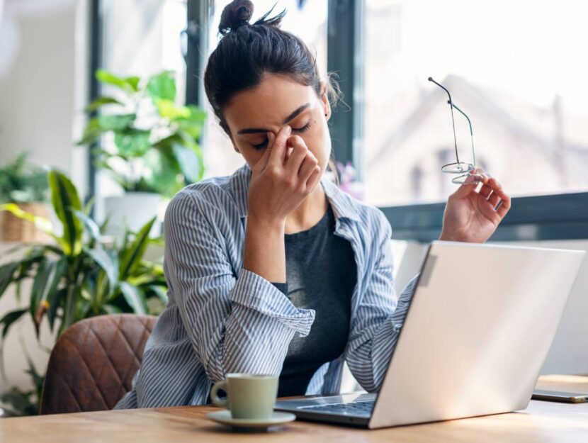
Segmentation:
[[(48, 218), (47, 174), (27, 162), (25, 152), (13, 162), (0, 167), (0, 203), (14, 203), (21, 210)], [(4, 213), (0, 224), (0, 240), (4, 242), (33, 242), (46, 240), (43, 232), (21, 218)]]

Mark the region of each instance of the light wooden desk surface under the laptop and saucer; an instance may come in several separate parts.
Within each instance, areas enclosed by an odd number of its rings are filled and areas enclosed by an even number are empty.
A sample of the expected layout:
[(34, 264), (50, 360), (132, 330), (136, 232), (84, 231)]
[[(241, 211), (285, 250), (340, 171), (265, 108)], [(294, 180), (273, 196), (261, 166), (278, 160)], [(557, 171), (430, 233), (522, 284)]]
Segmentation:
[[(588, 393), (588, 377), (546, 376), (538, 388)], [(583, 442), (588, 435), (588, 403), (531, 401), (518, 413), (463, 420), (358, 430), (292, 422), (281, 430), (243, 434), (205, 419), (208, 406), (136, 409), (17, 417), (0, 420), (0, 442)]]

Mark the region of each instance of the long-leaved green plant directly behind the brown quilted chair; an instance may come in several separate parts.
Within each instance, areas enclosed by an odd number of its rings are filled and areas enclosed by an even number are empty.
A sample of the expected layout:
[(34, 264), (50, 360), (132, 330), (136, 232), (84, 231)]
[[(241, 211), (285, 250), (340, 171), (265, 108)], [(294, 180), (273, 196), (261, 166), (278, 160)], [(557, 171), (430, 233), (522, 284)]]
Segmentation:
[[(34, 223), (53, 240), (45, 245), (18, 245), (10, 254), (26, 248), (21, 258), (1, 264), (0, 297), (13, 286), (23, 304), (0, 318), (2, 340), (23, 316), (33, 320), (37, 337), (42, 321), (47, 321), (59, 337), (73, 323), (94, 315), (161, 312), (167, 303), (163, 267), (145, 259), (147, 245), (153, 241), (149, 230), (155, 219), (136, 234), (125, 230), (120, 242), (105, 242), (104, 225), (98, 226), (89, 217), (91, 204), (82, 208), (67, 176), (50, 171), (48, 181), (52, 207), (61, 226), (53, 227), (49, 220), (26, 213), (13, 203), (0, 206), (0, 211)], [(23, 296), (21, 285), (26, 280), (32, 285)], [(37, 388), (42, 386), (43, 376), (32, 363), (28, 373)], [(38, 389), (23, 392), (13, 388), (0, 400), (11, 403), (20, 413), (31, 413), (38, 410)]]

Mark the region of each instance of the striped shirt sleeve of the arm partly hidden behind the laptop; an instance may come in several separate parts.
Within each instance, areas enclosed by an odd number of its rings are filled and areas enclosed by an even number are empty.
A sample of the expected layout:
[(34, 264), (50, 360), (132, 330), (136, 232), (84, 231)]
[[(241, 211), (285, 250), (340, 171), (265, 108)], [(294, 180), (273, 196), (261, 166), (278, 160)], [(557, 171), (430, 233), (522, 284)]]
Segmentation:
[[(383, 218), (383, 220), (381, 220)], [(388, 362), (402, 329), (419, 275), (397, 296), (392, 277), (392, 228), (382, 214), (375, 262), (365, 293), (351, 325), (346, 361), (358, 383), (368, 392), (380, 389)]]

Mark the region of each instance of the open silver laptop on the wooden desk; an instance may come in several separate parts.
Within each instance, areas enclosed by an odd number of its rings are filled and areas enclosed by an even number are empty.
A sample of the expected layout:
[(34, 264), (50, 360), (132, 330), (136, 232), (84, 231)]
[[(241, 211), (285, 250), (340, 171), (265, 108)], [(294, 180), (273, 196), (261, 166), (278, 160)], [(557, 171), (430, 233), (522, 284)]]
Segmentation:
[(276, 410), (375, 429), (525, 409), (584, 254), (433, 242), (380, 391)]

